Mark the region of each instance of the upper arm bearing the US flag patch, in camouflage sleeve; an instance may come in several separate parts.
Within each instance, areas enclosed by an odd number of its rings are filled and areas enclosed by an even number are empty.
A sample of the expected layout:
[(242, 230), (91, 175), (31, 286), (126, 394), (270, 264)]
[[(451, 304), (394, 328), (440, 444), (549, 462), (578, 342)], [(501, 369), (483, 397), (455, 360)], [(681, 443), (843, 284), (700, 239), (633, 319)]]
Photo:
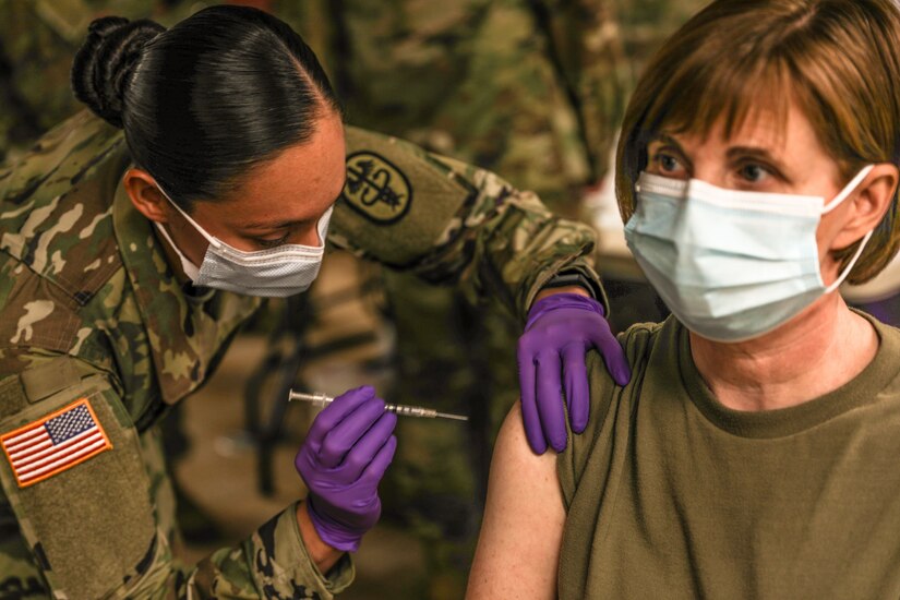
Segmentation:
[(74, 363), (0, 382), (0, 503), (20, 525), (3, 544), (24, 542), (55, 591), (94, 598), (135, 579), (159, 545), (130, 417), (104, 376)]

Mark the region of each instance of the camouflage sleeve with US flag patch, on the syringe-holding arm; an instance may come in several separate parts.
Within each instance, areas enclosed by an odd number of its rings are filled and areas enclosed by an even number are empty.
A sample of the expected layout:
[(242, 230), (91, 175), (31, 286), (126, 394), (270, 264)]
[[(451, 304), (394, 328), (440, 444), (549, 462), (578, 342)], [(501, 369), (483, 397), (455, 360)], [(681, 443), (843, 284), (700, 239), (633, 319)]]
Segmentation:
[[(10, 374), (14, 362), (28, 368)], [(0, 530), (0, 584), (70, 599), (331, 599), (352, 580), (348, 555), (319, 572), (296, 504), (239, 544), (182, 564), (157, 493), (166, 476), (115, 382), (71, 358), (7, 350), (0, 365), (0, 517), (17, 525)], [(50, 440), (26, 457), (45, 430)]]

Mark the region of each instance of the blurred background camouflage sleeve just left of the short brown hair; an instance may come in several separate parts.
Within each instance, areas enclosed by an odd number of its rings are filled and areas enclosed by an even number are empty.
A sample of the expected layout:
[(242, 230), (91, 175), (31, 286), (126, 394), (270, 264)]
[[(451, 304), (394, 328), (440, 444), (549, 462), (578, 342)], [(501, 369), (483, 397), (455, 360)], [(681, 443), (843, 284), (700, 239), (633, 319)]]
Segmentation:
[(610, 0), (530, 0), (579, 120), (593, 182), (625, 113), (632, 70)]

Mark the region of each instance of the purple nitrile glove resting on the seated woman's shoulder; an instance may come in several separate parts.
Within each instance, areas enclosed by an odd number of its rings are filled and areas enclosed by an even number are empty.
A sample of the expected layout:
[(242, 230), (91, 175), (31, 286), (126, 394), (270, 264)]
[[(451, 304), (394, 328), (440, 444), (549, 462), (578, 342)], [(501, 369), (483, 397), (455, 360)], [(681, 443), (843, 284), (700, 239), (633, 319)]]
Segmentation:
[(585, 355), (597, 348), (619, 385), (632, 377), (628, 361), (607, 323), (603, 305), (577, 293), (554, 293), (531, 307), (525, 333), (518, 343), (521, 417), (528, 444), (537, 454), (550, 446), (566, 446), (565, 398), (572, 430), (581, 433), (588, 424), (590, 392)]

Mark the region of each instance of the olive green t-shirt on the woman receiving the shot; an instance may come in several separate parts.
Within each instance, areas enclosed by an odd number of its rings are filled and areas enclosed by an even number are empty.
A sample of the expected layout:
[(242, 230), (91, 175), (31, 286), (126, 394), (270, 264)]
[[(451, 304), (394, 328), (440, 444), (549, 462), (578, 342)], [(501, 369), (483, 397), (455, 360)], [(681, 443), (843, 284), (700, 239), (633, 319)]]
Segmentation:
[(859, 376), (781, 410), (717, 401), (674, 319), (621, 336), (624, 388), (592, 356), (560, 597), (900, 598), (900, 329), (872, 321)]

